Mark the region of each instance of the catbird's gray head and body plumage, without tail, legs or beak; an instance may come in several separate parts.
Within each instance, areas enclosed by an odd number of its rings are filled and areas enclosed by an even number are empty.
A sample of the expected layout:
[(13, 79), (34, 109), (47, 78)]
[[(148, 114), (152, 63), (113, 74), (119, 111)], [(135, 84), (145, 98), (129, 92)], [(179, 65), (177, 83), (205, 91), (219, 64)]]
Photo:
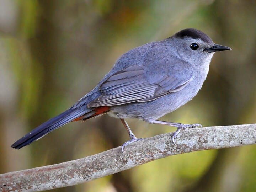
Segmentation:
[[(191, 31), (198, 32), (188, 29), (188, 34), (193, 34)], [(214, 45), (204, 33), (207, 43), (199, 37), (194, 39), (195, 35), (184, 34), (181, 31), (125, 53), (98, 86), (74, 107), (111, 106), (109, 114), (116, 118), (155, 120), (184, 105), (201, 89), (213, 56), (204, 49)], [(195, 42), (200, 46), (196, 52), (201, 52), (196, 55), (190, 48)], [(92, 101), (84, 101), (87, 97)]]

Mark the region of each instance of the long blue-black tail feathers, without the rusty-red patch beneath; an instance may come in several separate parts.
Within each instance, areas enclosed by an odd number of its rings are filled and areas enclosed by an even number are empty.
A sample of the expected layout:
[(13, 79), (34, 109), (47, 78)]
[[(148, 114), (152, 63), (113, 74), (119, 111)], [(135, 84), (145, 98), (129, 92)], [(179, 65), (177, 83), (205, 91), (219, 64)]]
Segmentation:
[(20, 149), (23, 146), (31, 144), (33, 141), (42, 138), (44, 135), (52, 132), (53, 130), (73, 121), (76, 118), (79, 118), (86, 113), (91, 111), (84, 111), (79, 109), (68, 109), (65, 112), (59, 114), (58, 116), (48, 120), (47, 122), (41, 124), (37, 128), (33, 129), (30, 133), (26, 134), (21, 139), (17, 140), (12, 144), (12, 148)]

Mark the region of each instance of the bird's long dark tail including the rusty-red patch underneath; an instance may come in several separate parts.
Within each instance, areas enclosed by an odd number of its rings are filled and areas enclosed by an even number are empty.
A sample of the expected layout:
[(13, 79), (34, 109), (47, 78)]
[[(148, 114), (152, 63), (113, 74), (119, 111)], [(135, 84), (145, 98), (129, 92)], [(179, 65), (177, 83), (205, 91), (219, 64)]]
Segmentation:
[(100, 114), (104, 114), (108, 111), (108, 109), (103, 107), (97, 107), (87, 110), (74, 109), (70, 108), (63, 113), (59, 114), (56, 117), (48, 120), (47, 122), (41, 124), (37, 128), (33, 129), (30, 133), (23, 136), (21, 139), (17, 140), (14, 144), (12, 144), (12, 148), (20, 149), (23, 146), (31, 144), (33, 141), (42, 138), (44, 135), (52, 132), (53, 130), (71, 122), (78, 120), (87, 120), (95, 116), (99, 116)]

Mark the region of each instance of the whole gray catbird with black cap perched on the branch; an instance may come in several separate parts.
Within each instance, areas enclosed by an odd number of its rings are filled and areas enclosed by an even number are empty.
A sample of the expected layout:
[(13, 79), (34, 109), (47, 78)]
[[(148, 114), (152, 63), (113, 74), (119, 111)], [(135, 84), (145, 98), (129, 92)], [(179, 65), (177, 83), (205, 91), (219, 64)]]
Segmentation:
[(139, 139), (124, 119), (137, 118), (148, 123), (177, 127), (172, 141), (185, 128), (200, 124), (181, 124), (156, 120), (190, 101), (201, 89), (217, 51), (231, 50), (214, 44), (202, 31), (190, 28), (173, 36), (134, 48), (123, 54), (98, 85), (65, 112), (41, 124), (12, 144), (20, 149), (71, 121), (86, 121), (108, 113), (119, 118), (130, 140)]

